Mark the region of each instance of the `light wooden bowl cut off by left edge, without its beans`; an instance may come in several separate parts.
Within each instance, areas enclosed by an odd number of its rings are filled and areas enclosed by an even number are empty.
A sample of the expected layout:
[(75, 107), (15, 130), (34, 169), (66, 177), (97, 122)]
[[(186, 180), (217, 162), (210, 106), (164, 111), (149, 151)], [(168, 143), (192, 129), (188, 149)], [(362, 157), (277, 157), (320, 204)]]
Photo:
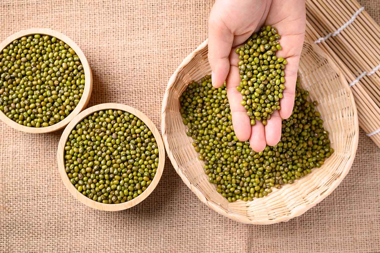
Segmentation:
[(61, 41), (64, 41), (66, 44), (68, 44), (78, 55), (79, 59), (81, 60), (83, 69), (84, 69), (84, 75), (85, 75), (85, 83), (84, 83), (84, 91), (81, 97), (81, 100), (79, 101), (78, 105), (74, 108), (74, 110), (62, 121), (59, 121), (57, 124), (54, 124), (52, 126), (47, 127), (27, 127), (24, 125), (20, 125), (16, 123), (16, 121), (13, 121), (12, 119), (9, 119), (2, 111), (0, 111), (0, 119), (5, 122), (8, 126), (13, 127), (16, 130), (20, 130), (22, 132), (27, 133), (33, 133), (33, 134), (41, 134), (41, 133), (49, 133), (54, 132), (56, 130), (59, 130), (63, 127), (65, 127), (76, 115), (78, 115), (83, 108), (85, 108), (90, 100), (91, 92), (92, 92), (92, 72), (90, 69), (90, 65), (86, 59), (86, 56), (84, 56), (84, 53), (82, 50), (78, 47), (78, 45), (72, 41), (70, 38), (68, 38), (66, 35), (63, 35), (62, 33), (59, 33), (58, 31), (54, 31), (51, 29), (46, 28), (31, 28), (27, 30), (22, 30), (17, 33), (14, 33), (13, 35), (6, 38), (3, 42), (0, 44), (0, 52), (3, 51), (3, 49), (8, 46), (11, 42), (13, 42), (15, 39), (21, 38), (23, 36), (33, 35), (33, 34), (41, 34), (41, 35), (49, 35), (54, 36), (57, 39), (60, 39)]

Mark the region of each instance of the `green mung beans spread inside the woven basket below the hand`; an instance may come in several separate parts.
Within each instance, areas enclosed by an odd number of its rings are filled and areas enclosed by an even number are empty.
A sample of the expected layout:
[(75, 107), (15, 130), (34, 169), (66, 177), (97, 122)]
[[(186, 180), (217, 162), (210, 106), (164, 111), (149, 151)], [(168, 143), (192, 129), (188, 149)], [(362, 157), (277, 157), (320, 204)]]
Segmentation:
[(234, 133), (225, 85), (213, 88), (209, 75), (188, 85), (180, 97), (180, 113), (217, 192), (230, 202), (261, 198), (272, 187), (306, 176), (331, 156), (334, 150), (317, 102), (307, 101), (308, 96), (297, 81), (293, 113), (282, 120), (280, 142), (255, 152)]

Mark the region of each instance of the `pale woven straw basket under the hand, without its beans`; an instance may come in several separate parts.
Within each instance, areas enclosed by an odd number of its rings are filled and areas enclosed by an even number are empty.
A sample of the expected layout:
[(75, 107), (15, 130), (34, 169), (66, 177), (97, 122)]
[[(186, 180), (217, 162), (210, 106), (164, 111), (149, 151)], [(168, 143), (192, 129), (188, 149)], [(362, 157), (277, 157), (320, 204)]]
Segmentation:
[[(306, 36), (307, 37), (307, 36)], [(306, 38), (307, 40), (307, 38)], [(271, 224), (299, 216), (326, 198), (350, 170), (358, 145), (358, 116), (353, 94), (334, 62), (317, 45), (305, 42), (299, 64), (301, 85), (317, 100), (318, 111), (330, 132), (335, 152), (321, 168), (253, 201), (228, 201), (209, 183), (203, 162), (186, 135), (179, 112), (179, 96), (192, 80), (210, 74), (207, 41), (180, 64), (169, 80), (162, 105), (161, 132), (168, 156), (184, 183), (198, 198), (219, 214), (238, 222)]]

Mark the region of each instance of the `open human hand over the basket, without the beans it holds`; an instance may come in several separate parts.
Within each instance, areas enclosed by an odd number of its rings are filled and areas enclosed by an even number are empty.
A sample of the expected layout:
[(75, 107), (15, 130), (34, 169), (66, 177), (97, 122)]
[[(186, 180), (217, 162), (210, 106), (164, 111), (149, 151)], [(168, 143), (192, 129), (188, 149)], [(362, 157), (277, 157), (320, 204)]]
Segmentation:
[[(282, 50), (277, 51), (276, 56), (288, 62), (284, 69), (285, 90), (280, 99), (281, 109), (272, 113), (267, 125), (256, 121), (251, 126), (247, 111), (241, 105), (242, 95), (236, 89), (241, 79), (235, 49), (263, 25), (275, 27), (281, 35)], [(289, 118), (293, 111), (305, 27), (305, 0), (217, 0), (211, 9), (208, 59), (212, 85), (218, 88), (226, 81), (236, 137), (241, 141), (249, 140), (256, 152), (262, 151), (267, 144), (274, 146), (280, 141), (281, 120)]]

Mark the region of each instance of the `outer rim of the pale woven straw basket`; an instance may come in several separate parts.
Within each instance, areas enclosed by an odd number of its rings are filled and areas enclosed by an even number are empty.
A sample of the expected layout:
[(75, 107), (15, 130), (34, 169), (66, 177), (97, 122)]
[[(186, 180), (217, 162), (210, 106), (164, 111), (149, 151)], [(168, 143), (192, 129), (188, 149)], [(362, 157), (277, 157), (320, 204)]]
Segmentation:
[[(309, 40), (305, 38), (305, 42), (308, 42), (308, 41)], [(279, 218), (274, 218), (274, 219), (273, 218), (272, 219), (269, 219), (269, 218), (255, 219), (255, 218), (249, 218), (249, 217), (247, 217), (245, 215), (237, 215), (237, 214), (233, 214), (233, 213), (230, 213), (230, 212), (226, 211), (225, 209), (223, 209), (222, 207), (220, 207), (220, 205), (218, 205), (214, 201), (208, 200), (206, 198), (206, 196), (204, 196), (203, 193), (201, 191), (199, 191), (195, 187), (195, 185), (193, 185), (188, 180), (188, 178), (184, 175), (184, 173), (182, 173), (182, 170), (180, 169), (180, 167), (179, 167), (176, 159), (174, 159), (173, 152), (172, 152), (171, 147), (169, 145), (168, 135), (166, 134), (166, 118), (167, 118), (167, 115), (166, 115), (165, 110), (166, 110), (166, 107), (167, 107), (167, 104), (168, 104), (169, 93), (170, 93), (171, 88), (174, 85), (174, 82), (176, 81), (176, 79), (177, 79), (177, 77), (179, 75), (179, 72), (182, 71), (182, 69), (188, 63), (190, 63), (190, 61), (192, 61), (196, 57), (196, 55), (197, 55), (198, 52), (200, 52), (201, 50), (203, 50), (205, 47), (208, 46), (208, 39), (206, 39), (192, 53), (190, 53), (186, 58), (184, 58), (184, 60), (182, 61), (182, 63), (179, 65), (179, 67), (176, 69), (176, 71), (170, 77), (168, 85), (166, 86), (166, 89), (165, 89), (165, 94), (164, 94), (163, 101), (162, 101), (162, 106), (161, 106), (161, 135), (162, 135), (163, 142), (164, 142), (164, 145), (165, 145), (166, 153), (167, 153), (167, 155), (168, 155), (168, 157), (169, 157), (169, 159), (170, 159), (170, 161), (171, 161), (171, 163), (172, 163), (172, 165), (174, 167), (174, 170), (176, 170), (177, 174), (180, 176), (180, 178), (185, 183), (185, 185), (187, 185), (187, 187), (193, 193), (195, 193), (195, 195), (199, 198), (200, 201), (202, 201), (204, 204), (206, 204), (208, 207), (210, 207), (211, 209), (213, 209), (217, 213), (219, 213), (219, 214), (221, 214), (221, 215), (223, 215), (225, 217), (231, 218), (231, 219), (233, 219), (233, 220), (235, 220), (237, 222), (246, 223), (246, 224), (268, 225), (268, 224), (273, 224), (273, 223), (277, 223), (277, 222), (285, 222), (285, 221), (290, 220), (291, 218), (294, 218), (294, 217), (297, 217), (299, 215), (304, 214), (307, 210), (309, 210), (313, 206), (315, 206), (318, 203), (320, 203), (323, 199), (326, 198), (326, 196), (328, 196), (329, 194), (331, 194), (331, 192), (336, 189), (336, 187), (340, 184), (340, 182), (342, 182), (342, 180), (345, 178), (345, 176), (350, 171), (351, 165), (352, 165), (352, 163), (353, 163), (353, 161), (355, 159), (356, 149), (358, 147), (358, 141), (359, 141), (359, 122), (358, 122), (358, 113), (357, 113), (357, 110), (356, 110), (355, 100), (354, 100), (352, 91), (351, 91), (351, 89), (350, 89), (350, 87), (348, 85), (348, 82), (344, 78), (344, 76), (342, 74), (342, 71), (339, 68), (339, 66), (337, 66), (335, 64), (335, 62), (332, 60), (331, 57), (329, 57), (329, 55), (327, 55), (327, 53), (325, 52), (325, 50), (323, 48), (320, 48), (320, 47), (318, 47), (317, 45), (315, 45), (315, 44), (313, 44), (311, 42), (309, 42), (309, 43), (312, 45), (313, 48), (317, 47), (318, 51), (321, 52), (322, 56), (329, 62), (329, 64), (331, 64), (334, 67), (334, 70), (339, 74), (340, 81), (341, 81), (341, 83), (343, 85), (342, 88), (345, 88), (345, 90), (347, 91), (347, 93), (350, 94), (350, 96), (348, 97), (348, 99), (350, 100), (351, 106), (352, 106), (352, 109), (353, 109), (353, 121), (354, 121), (354, 127), (355, 127), (355, 129), (354, 129), (355, 130), (355, 134), (352, 137), (352, 145), (351, 145), (351, 154), (352, 155), (347, 160), (347, 163), (346, 163), (346, 165), (344, 167), (344, 170), (342, 171), (342, 173), (339, 176), (339, 178), (337, 178), (334, 181), (334, 183), (332, 183), (331, 186), (325, 192), (323, 192), (317, 198), (315, 198), (315, 200), (313, 200), (312, 203), (310, 203), (310, 204), (301, 204), (300, 206), (292, 209), (288, 215), (282, 216), (282, 217), (279, 217)]]

